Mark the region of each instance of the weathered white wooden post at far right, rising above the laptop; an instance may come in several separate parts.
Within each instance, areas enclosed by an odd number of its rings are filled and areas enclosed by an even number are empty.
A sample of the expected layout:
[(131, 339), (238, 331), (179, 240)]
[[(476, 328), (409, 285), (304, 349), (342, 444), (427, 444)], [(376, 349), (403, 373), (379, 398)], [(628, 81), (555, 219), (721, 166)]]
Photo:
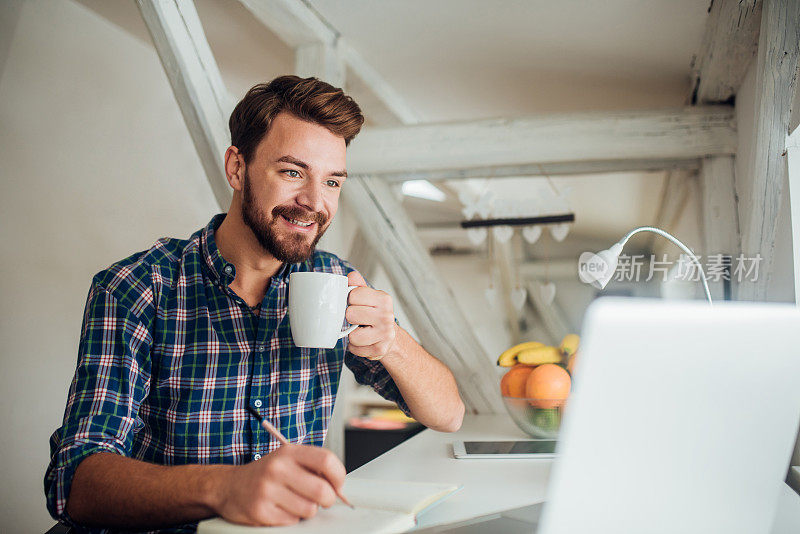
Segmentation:
[(775, 221), (786, 179), (784, 152), (800, 54), (800, 2), (765, 0), (756, 68), (756, 114), (753, 157), (747, 176), (738, 181), (742, 253), (760, 254), (756, 281), (739, 284), (742, 300), (763, 300), (773, 265)]

